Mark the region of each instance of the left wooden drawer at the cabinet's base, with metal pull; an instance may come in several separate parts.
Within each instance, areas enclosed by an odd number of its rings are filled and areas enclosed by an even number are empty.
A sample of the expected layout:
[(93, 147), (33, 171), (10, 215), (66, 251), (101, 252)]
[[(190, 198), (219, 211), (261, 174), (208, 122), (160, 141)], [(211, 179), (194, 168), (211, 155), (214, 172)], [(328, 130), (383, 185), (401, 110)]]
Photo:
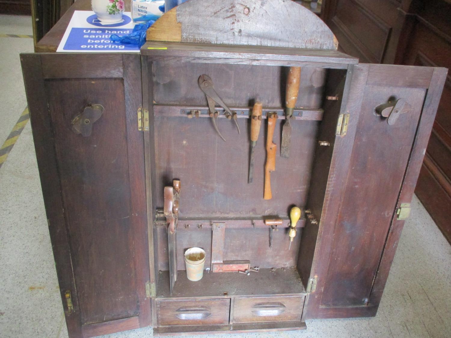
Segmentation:
[(156, 301), (158, 326), (229, 324), (230, 299)]

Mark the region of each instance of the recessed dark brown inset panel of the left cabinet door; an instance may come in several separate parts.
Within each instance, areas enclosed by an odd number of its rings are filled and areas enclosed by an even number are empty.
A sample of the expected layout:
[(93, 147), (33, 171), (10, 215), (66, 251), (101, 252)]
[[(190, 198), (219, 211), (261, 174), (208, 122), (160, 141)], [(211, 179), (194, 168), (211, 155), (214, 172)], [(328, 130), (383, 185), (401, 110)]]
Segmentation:
[[(82, 324), (137, 315), (123, 80), (46, 80), (46, 92)], [(82, 137), (71, 120), (92, 104), (105, 112)]]

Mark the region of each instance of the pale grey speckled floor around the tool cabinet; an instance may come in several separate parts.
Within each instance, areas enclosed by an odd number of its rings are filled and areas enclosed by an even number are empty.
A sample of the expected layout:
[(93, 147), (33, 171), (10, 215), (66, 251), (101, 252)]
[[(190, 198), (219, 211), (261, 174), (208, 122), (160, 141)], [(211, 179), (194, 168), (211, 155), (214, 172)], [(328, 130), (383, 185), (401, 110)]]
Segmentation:
[[(0, 33), (31, 34), (31, 19), (0, 15)], [(0, 37), (1, 143), (27, 105), (18, 53), (29, 51), (32, 39)], [(308, 320), (305, 331), (234, 337), (448, 338), (450, 281), (451, 247), (414, 197), (376, 317)], [(29, 123), (0, 168), (0, 285), (0, 337), (68, 336)], [(152, 328), (105, 337), (149, 336)]]

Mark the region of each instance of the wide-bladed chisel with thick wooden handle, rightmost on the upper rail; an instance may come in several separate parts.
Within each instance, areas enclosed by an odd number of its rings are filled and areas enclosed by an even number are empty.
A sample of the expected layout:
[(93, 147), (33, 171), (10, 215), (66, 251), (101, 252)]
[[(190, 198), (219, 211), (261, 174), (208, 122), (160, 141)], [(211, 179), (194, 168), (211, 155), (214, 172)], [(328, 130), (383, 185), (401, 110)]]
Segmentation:
[(286, 80), (285, 93), (285, 118), (286, 121), (282, 127), (282, 145), (281, 156), (288, 158), (290, 156), (290, 139), (291, 139), (291, 117), (295, 110), (296, 101), (298, 100), (299, 83), (301, 81), (301, 68), (290, 67), (288, 78)]

